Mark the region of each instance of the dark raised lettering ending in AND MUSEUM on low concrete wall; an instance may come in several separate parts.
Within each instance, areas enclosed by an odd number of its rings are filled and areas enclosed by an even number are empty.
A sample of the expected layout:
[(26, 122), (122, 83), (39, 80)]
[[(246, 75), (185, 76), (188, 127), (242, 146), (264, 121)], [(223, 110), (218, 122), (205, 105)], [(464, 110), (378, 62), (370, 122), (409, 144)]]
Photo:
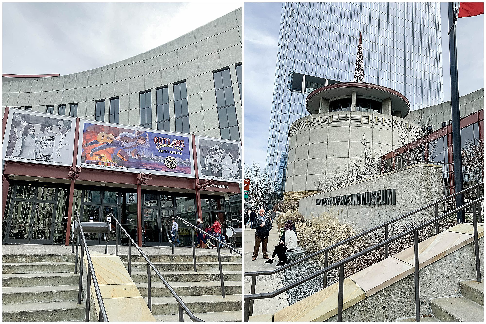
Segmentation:
[(368, 191), (315, 200), (316, 205), (395, 205), (395, 189)]

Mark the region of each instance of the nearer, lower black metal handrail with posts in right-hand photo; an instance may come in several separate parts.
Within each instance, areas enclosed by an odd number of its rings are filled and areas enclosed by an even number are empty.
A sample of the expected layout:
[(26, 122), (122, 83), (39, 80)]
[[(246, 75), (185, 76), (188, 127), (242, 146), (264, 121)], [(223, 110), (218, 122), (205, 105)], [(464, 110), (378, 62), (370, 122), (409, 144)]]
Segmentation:
[[(370, 248), (367, 248), (361, 252), (358, 252), (358, 253), (355, 253), (341, 261), (338, 261), (330, 266), (326, 266), (325, 268), (321, 269), (321, 270), (318, 270), (310, 275), (307, 275), (305, 277), (303, 277), (302, 279), (300, 280), (297, 280), (287, 286), (284, 286), (282, 288), (279, 288), (273, 292), (266, 292), (266, 293), (251, 293), (249, 295), (245, 295), (244, 296), (244, 320), (245, 321), (248, 321), (248, 318), (249, 316), (251, 315), (250, 314), (250, 304), (252, 304), (252, 302), (255, 300), (255, 299), (266, 299), (266, 298), (272, 298), (272, 297), (275, 297), (277, 295), (279, 295), (280, 293), (282, 292), (285, 292), (291, 288), (294, 288), (296, 286), (299, 286), (300, 284), (304, 283), (304, 282), (307, 282), (321, 274), (326, 274), (328, 271), (330, 270), (333, 270), (333, 269), (336, 269), (339, 267), (339, 288), (338, 288), (338, 316), (337, 316), (337, 320), (338, 321), (342, 321), (342, 316), (343, 316), (343, 291), (344, 291), (344, 265), (358, 257), (361, 257), (363, 256), (364, 254), (367, 254), (369, 252), (372, 252), (372, 251), (375, 251), (379, 248), (381, 248), (382, 246), (387, 246), (388, 244), (390, 244), (391, 242), (394, 242), (396, 240), (398, 240), (399, 238), (402, 238), (408, 234), (412, 234), (414, 233), (414, 268), (415, 268), (415, 303), (416, 303), (416, 314), (415, 314), (415, 320), (416, 321), (420, 321), (420, 299), (419, 299), (419, 289), (418, 289), (418, 268), (419, 268), (419, 264), (418, 264), (418, 230), (426, 227), (426, 226), (429, 226), (431, 224), (433, 224), (434, 222), (437, 222), (445, 217), (448, 217), (448, 216), (451, 216), (453, 214), (456, 214), (457, 212), (459, 211), (462, 211), (462, 210), (465, 210), (466, 208), (472, 206), (472, 210), (473, 210), (473, 230), (474, 230), (474, 252), (475, 252), (475, 259), (476, 259), (476, 281), (477, 282), (481, 282), (481, 268), (480, 268), (480, 261), (479, 261), (479, 238), (478, 238), (478, 227), (477, 227), (477, 215), (476, 215), (476, 212), (477, 212), (477, 209), (476, 209), (476, 204), (478, 205), (478, 207), (481, 205), (481, 201), (483, 201), (483, 198), (484, 197), (480, 197), (480, 198), (477, 198), (467, 204), (464, 204), (460, 207), (457, 207), (455, 208), (454, 210), (451, 210), (447, 213), (444, 213), (442, 216), (438, 216), (434, 219), (431, 219), (425, 223), (422, 223), (421, 225), (417, 225), (416, 227), (414, 228), (411, 228), (405, 232), (402, 232), (392, 238), (388, 238), (388, 239), (385, 239), (383, 242), (381, 243), (378, 243)], [(256, 277), (256, 276), (255, 276)], [(253, 288), (253, 283), (252, 283), (252, 288)]]

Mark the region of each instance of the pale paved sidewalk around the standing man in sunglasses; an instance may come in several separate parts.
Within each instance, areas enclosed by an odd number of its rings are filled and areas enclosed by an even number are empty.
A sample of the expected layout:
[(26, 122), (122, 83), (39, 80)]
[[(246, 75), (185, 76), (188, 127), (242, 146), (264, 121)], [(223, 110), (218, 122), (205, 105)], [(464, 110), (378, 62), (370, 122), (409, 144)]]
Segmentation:
[[(277, 218), (272, 223), (273, 228), (268, 236), (268, 256), (272, 256), (275, 245), (278, 243), (279, 236), (277, 230)], [(255, 230), (250, 229), (250, 226), (246, 227), (244, 230), (244, 270), (249, 271), (261, 271), (261, 270), (273, 270), (276, 269), (276, 264), (278, 263), (278, 258), (274, 260), (273, 264), (267, 264), (263, 261), (263, 255), (261, 253), (261, 245), (258, 254), (258, 258), (255, 261), (251, 261), (253, 255), (253, 249), (255, 247)], [(285, 279), (283, 271), (280, 271), (274, 275), (257, 276), (257, 286), (255, 292), (271, 292), (278, 288), (285, 286)], [(244, 292), (245, 294), (250, 293), (251, 288), (251, 277), (244, 277)], [(280, 310), (288, 306), (287, 293), (281, 293), (280, 295), (270, 298), (270, 299), (260, 299), (255, 300), (253, 304), (253, 315), (262, 314), (273, 314), (277, 310)]]

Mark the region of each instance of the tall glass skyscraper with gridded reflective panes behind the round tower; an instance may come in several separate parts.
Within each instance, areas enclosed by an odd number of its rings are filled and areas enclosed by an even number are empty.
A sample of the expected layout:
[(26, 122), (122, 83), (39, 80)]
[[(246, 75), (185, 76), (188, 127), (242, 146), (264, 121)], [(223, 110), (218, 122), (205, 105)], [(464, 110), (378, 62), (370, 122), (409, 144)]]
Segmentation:
[(312, 80), (353, 81), (360, 31), (364, 82), (401, 92), (411, 110), (442, 102), (440, 3), (284, 3), (266, 162), (273, 199), (285, 189), (289, 127), (324, 86)]

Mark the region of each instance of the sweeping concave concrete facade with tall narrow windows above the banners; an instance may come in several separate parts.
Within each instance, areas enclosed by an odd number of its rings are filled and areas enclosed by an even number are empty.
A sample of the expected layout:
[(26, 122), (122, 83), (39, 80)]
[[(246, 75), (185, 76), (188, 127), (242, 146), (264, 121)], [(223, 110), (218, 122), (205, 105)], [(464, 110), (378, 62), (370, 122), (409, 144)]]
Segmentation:
[[(229, 67), (240, 134), (242, 108), (235, 64), (242, 62), (241, 9), (218, 18), (145, 53), (97, 69), (43, 78), (15, 78), (3, 82), (5, 107), (78, 104), (77, 117), (94, 119), (95, 101), (105, 100), (108, 121), (109, 98), (120, 97), (120, 124), (139, 125), (139, 92), (152, 91), (152, 128), (156, 127), (156, 88), (169, 86), (171, 131), (175, 131), (172, 85), (186, 81), (191, 133), (221, 137), (213, 71)], [(6, 80), (14, 80), (6, 78)]]

